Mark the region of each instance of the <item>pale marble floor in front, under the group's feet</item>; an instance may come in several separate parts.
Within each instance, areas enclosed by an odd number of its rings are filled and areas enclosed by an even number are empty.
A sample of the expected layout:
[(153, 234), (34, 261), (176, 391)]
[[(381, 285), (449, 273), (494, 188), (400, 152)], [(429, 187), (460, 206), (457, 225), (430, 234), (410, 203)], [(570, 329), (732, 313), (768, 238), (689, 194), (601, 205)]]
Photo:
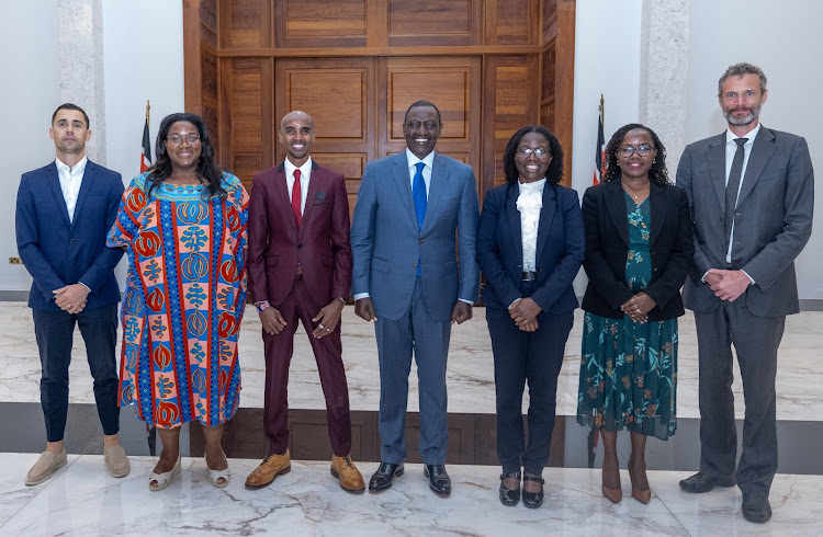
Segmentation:
[[(542, 507), (505, 507), (497, 500), (496, 467), (451, 466), (453, 492), (436, 496), (420, 465), (407, 465), (392, 489), (350, 494), (329, 476), (328, 462), (292, 462), (272, 485), (243, 484), (256, 460), (230, 459), (233, 479), (213, 488), (200, 459), (184, 459), (168, 489), (149, 492), (154, 461), (132, 458), (132, 473), (110, 477), (100, 455), (69, 455), (49, 481), (23, 485), (34, 454), (0, 454), (0, 535), (775, 535), (816, 536), (823, 530), (823, 480), (778, 475), (774, 517), (743, 519), (736, 488), (681, 492), (686, 472), (650, 471), (647, 505), (632, 498), (611, 504), (599, 493), (599, 470), (550, 469)], [(376, 465), (361, 465), (369, 475)], [(629, 479), (623, 472), (623, 492)]]

